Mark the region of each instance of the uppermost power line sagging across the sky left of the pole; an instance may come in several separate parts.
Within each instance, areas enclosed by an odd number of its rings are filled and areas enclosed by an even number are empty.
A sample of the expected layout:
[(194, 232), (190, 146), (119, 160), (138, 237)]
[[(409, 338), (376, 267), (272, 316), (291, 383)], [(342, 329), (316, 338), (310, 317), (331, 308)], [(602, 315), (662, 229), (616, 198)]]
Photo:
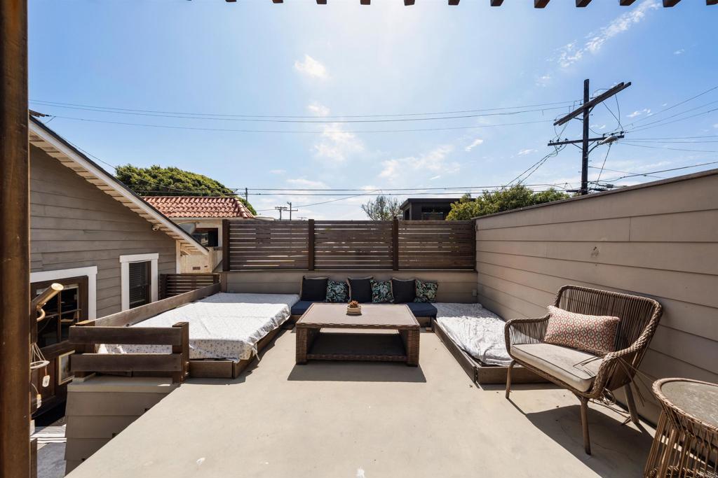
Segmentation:
[[(567, 105), (568, 103), (574, 103), (574, 101), (559, 101), (550, 103), (537, 103), (534, 105), (520, 105), (520, 106), (506, 106), (506, 107), (494, 107), (494, 108), (481, 108), (475, 110), (457, 110), (457, 111), (439, 111), (434, 113), (393, 113), (393, 114), (372, 114), (372, 115), (236, 115), (236, 114), (223, 114), (223, 113), (182, 113), (177, 111), (161, 111), (161, 110), (139, 110), (131, 108), (118, 108), (108, 106), (93, 106), (93, 105), (80, 105), (78, 103), (65, 103), (65, 102), (53, 102), (46, 100), (30, 100), (30, 102), (39, 103), (48, 106), (62, 106), (62, 107), (75, 107), (74, 109), (87, 109), (93, 108), (97, 110), (115, 110), (117, 112), (136, 112), (136, 113), (159, 113), (166, 115), (193, 115), (193, 116), (217, 116), (226, 118), (294, 118), (294, 119), (311, 119), (311, 118), (381, 118), (390, 116), (419, 116), (419, 115), (454, 115), (460, 113), (480, 113), (484, 111), (499, 111), (499, 110), (516, 110), (518, 108), (527, 107), (538, 107), (538, 106), (552, 106), (552, 105)], [(565, 106), (564, 106), (565, 107)], [(546, 109), (546, 108), (544, 108)], [(111, 113), (111, 111), (108, 111)]]

